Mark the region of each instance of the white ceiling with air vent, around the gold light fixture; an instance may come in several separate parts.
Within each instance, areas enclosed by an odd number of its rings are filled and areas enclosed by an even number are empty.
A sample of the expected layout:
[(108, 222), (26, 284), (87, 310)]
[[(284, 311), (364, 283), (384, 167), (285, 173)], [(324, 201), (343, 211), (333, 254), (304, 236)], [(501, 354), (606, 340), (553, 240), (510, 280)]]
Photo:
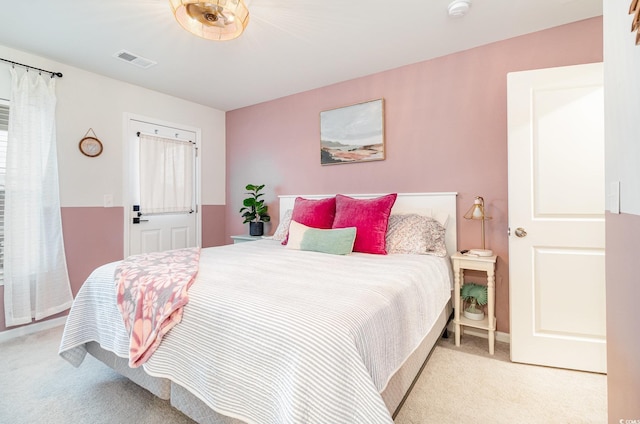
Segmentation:
[(462, 18), (449, 3), (246, 0), (244, 34), (216, 42), (182, 29), (169, 0), (14, 1), (0, 44), (228, 111), (602, 15), (602, 0), (473, 0)]

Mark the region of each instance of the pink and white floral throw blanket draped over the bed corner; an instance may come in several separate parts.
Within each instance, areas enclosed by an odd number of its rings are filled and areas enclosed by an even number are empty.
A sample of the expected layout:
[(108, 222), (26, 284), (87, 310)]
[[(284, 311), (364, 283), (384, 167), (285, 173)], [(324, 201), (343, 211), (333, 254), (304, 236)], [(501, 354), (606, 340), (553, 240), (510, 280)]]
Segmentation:
[(200, 248), (130, 256), (115, 271), (118, 309), (129, 332), (129, 366), (139, 367), (182, 320)]

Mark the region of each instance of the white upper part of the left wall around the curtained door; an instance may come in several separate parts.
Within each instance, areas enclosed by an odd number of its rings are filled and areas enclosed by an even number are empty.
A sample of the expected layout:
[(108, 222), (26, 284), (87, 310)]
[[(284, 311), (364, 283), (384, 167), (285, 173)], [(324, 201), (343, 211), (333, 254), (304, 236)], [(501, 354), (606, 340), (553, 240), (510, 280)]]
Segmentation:
[[(105, 194), (113, 195), (114, 206), (123, 205), (124, 112), (201, 128), (202, 204), (225, 204), (223, 111), (1, 45), (0, 57), (64, 74), (63, 78), (56, 79), (58, 165), (63, 207), (100, 207)], [(0, 62), (0, 97), (5, 99), (10, 96), (9, 67)], [(102, 155), (97, 158), (88, 158), (78, 150), (78, 142), (89, 128), (93, 128), (104, 146)]]

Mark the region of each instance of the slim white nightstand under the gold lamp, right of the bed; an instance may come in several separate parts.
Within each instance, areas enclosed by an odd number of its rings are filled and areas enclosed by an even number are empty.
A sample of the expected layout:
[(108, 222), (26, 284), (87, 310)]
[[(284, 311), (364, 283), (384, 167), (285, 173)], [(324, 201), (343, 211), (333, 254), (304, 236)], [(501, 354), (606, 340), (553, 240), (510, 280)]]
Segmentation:
[[(463, 331), (463, 327), (480, 328), (487, 330), (489, 336), (489, 353), (493, 355), (495, 346), (495, 332), (496, 332), (496, 315), (495, 315), (495, 302), (496, 302), (496, 260), (497, 256), (469, 256), (461, 253), (455, 253), (451, 256), (451, 262), (453, 263), (453, 278), (454, 278), (454, 308), (455, 314), (453, 318), (453, 324), (456, 331), (456, 346), (460, 346), (460, 335)], [(462, 302), (460, 300), (460, 286), (464, 283), (464, 270), (484, 271), (487, 273), (487, 314), (482, 321), (474, 321), (468, 319), (460, 311), (462, 310)]]

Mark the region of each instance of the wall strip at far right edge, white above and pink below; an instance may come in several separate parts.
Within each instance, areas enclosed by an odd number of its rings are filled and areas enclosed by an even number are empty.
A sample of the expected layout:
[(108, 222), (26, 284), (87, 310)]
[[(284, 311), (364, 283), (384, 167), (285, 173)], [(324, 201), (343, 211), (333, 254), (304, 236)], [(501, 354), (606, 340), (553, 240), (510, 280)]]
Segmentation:
[[(605, 0), (605, 180), (620, 182), (620, 214), (606, 214), (607, 398), (610, 423), (640, 420), (640, 46), (630, 1)], [(610, 189), (609, 189), (610, 190)]]

